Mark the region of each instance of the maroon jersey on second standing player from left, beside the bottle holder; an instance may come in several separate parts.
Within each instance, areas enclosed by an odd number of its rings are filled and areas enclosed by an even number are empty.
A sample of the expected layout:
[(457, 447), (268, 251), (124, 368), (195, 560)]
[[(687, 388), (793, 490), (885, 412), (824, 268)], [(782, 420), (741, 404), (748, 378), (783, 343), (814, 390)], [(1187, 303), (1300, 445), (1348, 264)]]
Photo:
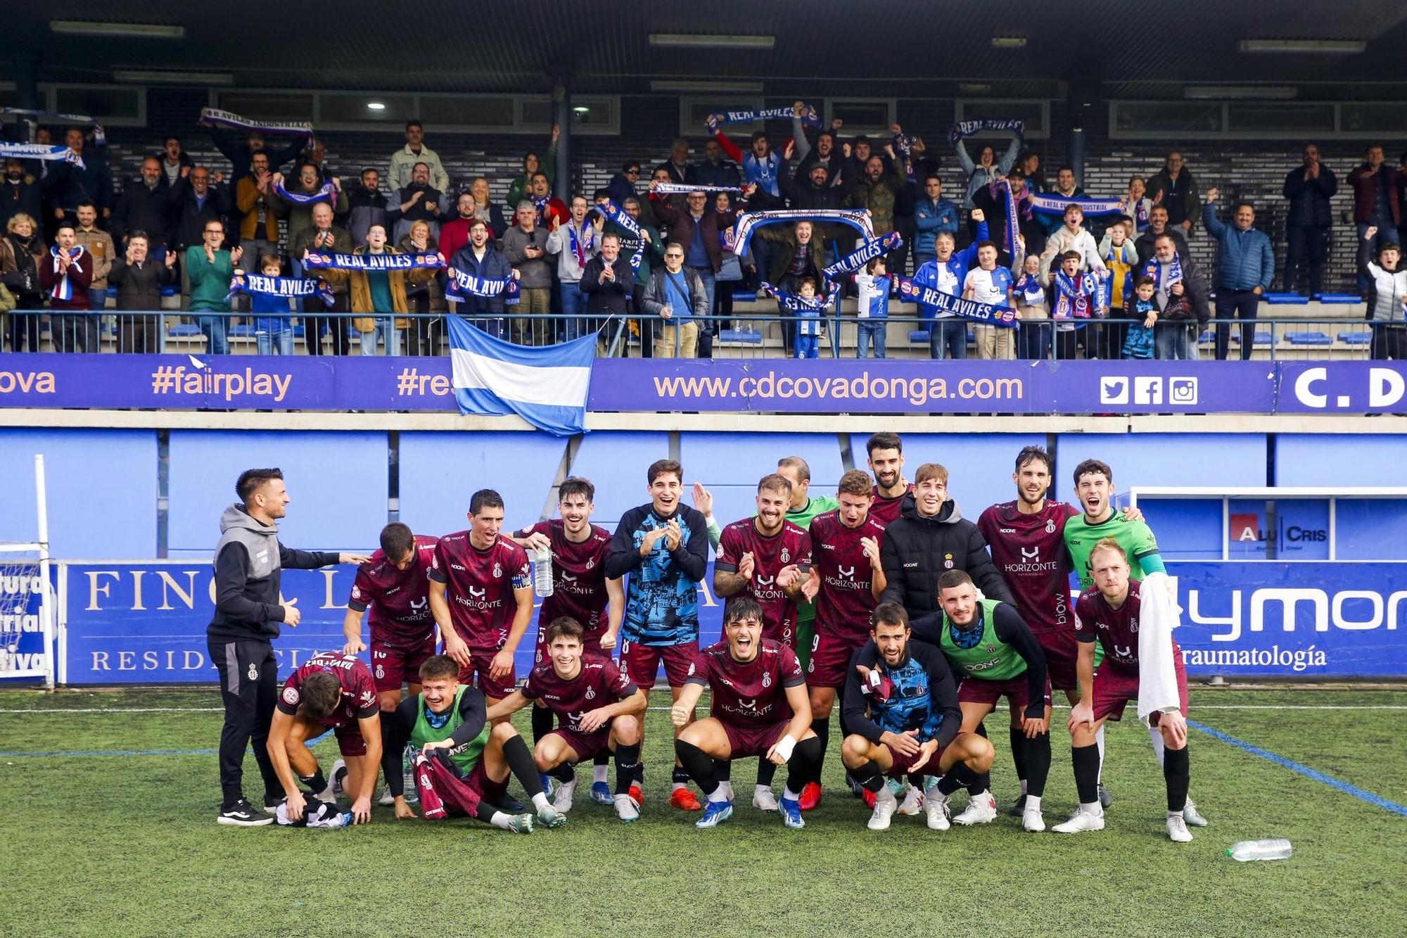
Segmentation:
[(504, 646), (518, 611), (514, 590), (532, 586), (526, 551), (508, 538), (480, 551), (469, 542), (469, 531), (439, 539), (431, 579), (445, 583), (450, 623), (471, 651)]

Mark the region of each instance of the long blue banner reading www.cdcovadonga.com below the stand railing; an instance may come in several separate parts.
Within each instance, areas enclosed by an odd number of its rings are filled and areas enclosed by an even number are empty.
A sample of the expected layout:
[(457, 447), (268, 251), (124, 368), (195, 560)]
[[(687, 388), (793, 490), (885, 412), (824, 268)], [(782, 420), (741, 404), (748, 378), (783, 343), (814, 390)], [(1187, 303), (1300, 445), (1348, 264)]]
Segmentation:
[[(447, 358), (0, 355), (0, 407), (457, 411)], [(1399, 362), (595, 359), (588, 411), (1407, 411)]]

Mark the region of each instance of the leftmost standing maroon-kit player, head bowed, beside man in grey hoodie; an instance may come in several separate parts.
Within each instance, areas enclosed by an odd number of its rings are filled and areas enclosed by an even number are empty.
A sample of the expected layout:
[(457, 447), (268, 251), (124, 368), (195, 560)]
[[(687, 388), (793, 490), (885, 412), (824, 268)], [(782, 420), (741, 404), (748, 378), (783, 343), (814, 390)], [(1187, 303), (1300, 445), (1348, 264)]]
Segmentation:
[[(367, 649), (362, 641), (362, 618), (371, 610), (371, 677), (381, 713), (395, 711), (401, 703), (401, 682), (409, 696), (421, 693), (421, 665), (435, 654), (435, 617), (431, 614), (429, 570), (435, 562), (438, 538), (412, 534), (400, 521), (381, 528), (381, 549), (357, 568), (342, 620), (343, 655)], [(401, 753), (393, 752), (386, 739), (390, 720), (381, 721), (381, 769), (387, 787), (380, 804), (391, 804), (391, 772), (398, 770)]]

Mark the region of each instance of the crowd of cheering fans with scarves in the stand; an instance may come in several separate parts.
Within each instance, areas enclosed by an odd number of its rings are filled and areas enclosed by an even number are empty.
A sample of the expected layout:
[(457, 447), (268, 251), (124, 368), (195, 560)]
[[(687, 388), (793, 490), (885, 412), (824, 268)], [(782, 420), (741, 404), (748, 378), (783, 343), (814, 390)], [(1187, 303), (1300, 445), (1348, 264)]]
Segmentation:
[[(163, 287), (179, 284), (184, 314), (214, 354), (229, 351), (235, 313), (248, 314), (239, 321), (252, 325), (260, 354), (291, 354), (301, 331), (311, 355), (348, 354), (357, 334), (362, 354), (433, 355), (442, 351), (443, 317), (463, 315), (525, 345), (598, 332), (601, 354), (625, 354), (636, 339), (643, 356), (711, 356), (713, 339), (730, 325), (737, 290), (758, 300), (815, 297), (779, 299), (784, 317), (820, 308), (833, 294), (826, 265), (861, 242), (829, 218), (760, 227), (746, 254), (733, 249), (740, 211), (794, 208), (864, 210), (877, 238), (902, 237), (895, 251), (834, 284), (858, 299), (853, 321), (861, 356), (885, 355), (889, 299), (912, 269), (916, 284), (1016, 308), (1014, 330), (974, 327), (982, 358), (1196, 358), (1213, 311), (1217, 358), (1230, 352), (1235, 320), (1240, 355), (1249, 358), (1249, 321), (1276, 283), (1271, 238), (1256, 228), (1254, 204), (1224, 207), (1216, 187), (1203, 193), (1179, 152), (1148, 177), (1131, 177), (1117, 214), (1086, 220), (1078, 204), (1086, 193), (1074, 172), (1059, 166), (1050, 182), (1040, 154), (1019, 134), (1006, 146), (957, 139), (953, 156), (967, 182), (944, 193), (937, 146), (905, 137), (898, 125), (892, 139), (872, 141), (843, 135), (840, 120), (810, 127), (803, 117), (798, 103), (779, 146), (758, 131), (746, 148), (711, 120), (701, 159), (691, 159), (688, 141), (675, 139), (660, 165), (629, 161), (608, 186), (568, 201), (553, 196), (553, 128), (546, 152), (523, 156), (504, 204), (492, 201), (484, 177), (452, 180), (419, 121), (407, 124), (405, 145), (384, 173), (369, 166), (356, 182), (328, 172), (315, 137), (239, 137), (211, 127), (229, 177), (193, 162), (170, 137), (120, 196), (103, 146), (83, 130), (68, 130), (63, 142), (80, 162), (4, 162), (4, 348), (39, 351), (46, 315), (55, 351), (98, 351), (115, 287), (117, 349), (155, 352), (153, 311)], [(35, 142), (53, 142), (52, 134), (41, 128)], [(1407, 235), (1407, 155), (1393, 169), (1382, 146), (1369, 146), (1346, 180), (1372, 354), (1400, 358), (1407, 351), (1399, 246)], [(664, 193), (661, 183), (708, 189)], [(739, 192), (715, 192), (726, 187)], [(1301, 270), (1309, 292), (1321, 292), (1337, 190), (1318, 148), (1304, 146), (1303, 163), (1283, 186), (1282, 292), (1296, 290)], [(307, 201), (319, 193), (321, 200)], [(1031, 196), (1071, 204), (1062, 214), (1033, 210)], [(597, 208), (608, 200), (629, 218)], [(1012, 217), (1016, 232), (1006, 230)], [(1188, 249), (1199, 237), (1216, 242), (1210, 277)], [(284, 297), (255, 296), (248, 308), (248, 297), (229, 299), (242, 272), (312, 276), (303, 266), (310, 251), (438, 254), (443, 268), (322, 270), (329, 292), (297, 300), (297, 308)], [(505, 294), (460, 294), (446, 270), (516, 279), (516, 303)], [(968, 321), (941, 310), (927, 314), (933, 358), (965, 358)], [(848, 311), (844, 317), (851, 320)], [(806, 327), (798, 323), (784, 321), (785, 345), (803, 354), (798, 337)]]

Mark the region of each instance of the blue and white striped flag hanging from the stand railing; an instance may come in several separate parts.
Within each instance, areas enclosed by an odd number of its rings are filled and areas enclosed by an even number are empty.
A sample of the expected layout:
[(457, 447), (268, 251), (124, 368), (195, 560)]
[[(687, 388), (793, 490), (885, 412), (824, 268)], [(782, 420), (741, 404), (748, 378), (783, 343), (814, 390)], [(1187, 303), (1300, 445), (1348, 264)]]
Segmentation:
[(494, 338), (457, 315), (447, 323), (459, 413), (514, 413), (557, 437), (587, 432), (595, 332), (539, 348)]

